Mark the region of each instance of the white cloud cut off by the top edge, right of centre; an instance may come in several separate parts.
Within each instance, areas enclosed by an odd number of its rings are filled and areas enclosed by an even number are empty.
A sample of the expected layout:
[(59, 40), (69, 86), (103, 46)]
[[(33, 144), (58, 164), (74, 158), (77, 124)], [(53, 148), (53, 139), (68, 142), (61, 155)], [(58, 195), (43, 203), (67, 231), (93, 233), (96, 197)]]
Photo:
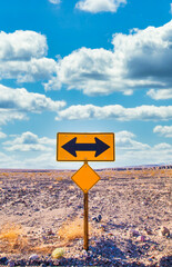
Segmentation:
[(102, 11), (117, 12), (118, 8), (125, 3), (127, 0), (81, 0), (77, 2), (75, 8), (91, 13)]

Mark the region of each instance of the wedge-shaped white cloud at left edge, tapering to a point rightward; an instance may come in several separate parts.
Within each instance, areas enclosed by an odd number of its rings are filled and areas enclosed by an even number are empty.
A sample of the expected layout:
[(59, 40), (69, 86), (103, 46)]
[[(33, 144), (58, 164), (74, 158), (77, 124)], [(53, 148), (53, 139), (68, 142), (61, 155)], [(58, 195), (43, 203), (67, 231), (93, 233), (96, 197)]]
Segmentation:
[(24, 88), (9, 88), (0, 85), (0, 125), (14, 119), (26, 119), (28, 112), (58, 112), (64, 101), (53, 101), (44, 95), (29, 92)]

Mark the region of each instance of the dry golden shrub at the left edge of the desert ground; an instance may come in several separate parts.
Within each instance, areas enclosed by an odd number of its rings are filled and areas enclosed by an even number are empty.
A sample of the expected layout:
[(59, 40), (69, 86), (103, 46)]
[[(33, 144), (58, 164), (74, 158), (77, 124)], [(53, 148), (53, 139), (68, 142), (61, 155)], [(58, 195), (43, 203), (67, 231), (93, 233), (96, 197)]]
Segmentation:
[(4, 253), (22, 251), (28, 246), (20, 225), (7, 224), (0, 230), (0, 248)]

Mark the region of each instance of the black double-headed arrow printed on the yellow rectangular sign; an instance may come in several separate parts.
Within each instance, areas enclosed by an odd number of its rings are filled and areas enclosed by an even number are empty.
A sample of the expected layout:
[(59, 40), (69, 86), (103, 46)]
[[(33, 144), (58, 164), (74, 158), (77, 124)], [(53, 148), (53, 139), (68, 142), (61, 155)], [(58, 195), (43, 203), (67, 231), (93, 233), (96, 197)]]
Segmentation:
[(110, 148), (110, 146), (101, 141), (99, 138), (95, 137), (94, 140), (95, 142), (93, 144), (79, 144), (77, 142), (77, 137), (74, 137), (69, 142), (64, 144), (62, 148), (74, 157), (77, 157), (77, 151), (95, 151), (94, 157), (98, 157)]

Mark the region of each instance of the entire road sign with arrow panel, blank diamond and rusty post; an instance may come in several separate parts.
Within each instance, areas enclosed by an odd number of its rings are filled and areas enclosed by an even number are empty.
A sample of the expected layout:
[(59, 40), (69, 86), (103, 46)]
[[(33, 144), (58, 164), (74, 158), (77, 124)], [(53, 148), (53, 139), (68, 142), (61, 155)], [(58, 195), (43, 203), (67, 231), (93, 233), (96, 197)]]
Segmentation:
[(58, 161), (84, 161), (83, 166), (71, 179), (83, 191), (83, 248), (89, 249), (89, 200), (88, 191), (100, 180), (98, 174), (88, 161), (114, 161), (114, 134), (74, 134), (59, 132), (57, 135)]

